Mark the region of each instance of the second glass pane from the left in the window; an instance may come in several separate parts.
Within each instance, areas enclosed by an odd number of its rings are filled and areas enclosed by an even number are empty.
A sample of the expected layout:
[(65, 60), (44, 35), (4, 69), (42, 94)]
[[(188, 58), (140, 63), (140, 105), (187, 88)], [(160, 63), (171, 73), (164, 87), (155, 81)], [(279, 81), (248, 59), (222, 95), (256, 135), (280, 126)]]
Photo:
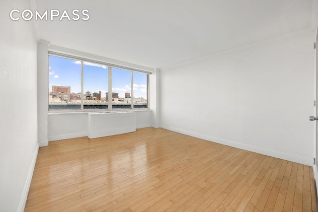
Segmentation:
[(84, 109), (108, 109), (108, 67), (84, 62)]

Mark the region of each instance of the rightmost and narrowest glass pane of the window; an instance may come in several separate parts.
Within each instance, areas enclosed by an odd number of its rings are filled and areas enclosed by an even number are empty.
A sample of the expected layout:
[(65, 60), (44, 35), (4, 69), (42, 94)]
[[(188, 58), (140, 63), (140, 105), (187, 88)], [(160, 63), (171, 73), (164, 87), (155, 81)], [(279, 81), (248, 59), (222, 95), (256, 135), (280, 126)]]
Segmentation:
[(147, 108), (148, 74), (142, 72), (133, 73), (134, 77), (134, 108)]

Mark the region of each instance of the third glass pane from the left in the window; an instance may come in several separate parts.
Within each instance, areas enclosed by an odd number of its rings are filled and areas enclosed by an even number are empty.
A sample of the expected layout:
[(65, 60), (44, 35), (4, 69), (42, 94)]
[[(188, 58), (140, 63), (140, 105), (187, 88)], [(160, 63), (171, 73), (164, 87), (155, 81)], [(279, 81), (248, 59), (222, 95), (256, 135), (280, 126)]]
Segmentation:
[(131, 108), (131, 71), (112, 69), (112, 107)]

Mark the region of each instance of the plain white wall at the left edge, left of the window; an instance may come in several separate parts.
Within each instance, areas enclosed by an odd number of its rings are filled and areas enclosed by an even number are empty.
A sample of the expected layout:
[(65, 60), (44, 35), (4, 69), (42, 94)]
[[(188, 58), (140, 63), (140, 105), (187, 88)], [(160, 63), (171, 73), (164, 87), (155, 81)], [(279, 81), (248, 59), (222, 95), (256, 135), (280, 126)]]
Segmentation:
[(12, 21), (14, 8), (28, 0), (4, 0), (0, 6), (0, 211), (24, 209), (38, 150), (37, 43), (32, 21)]

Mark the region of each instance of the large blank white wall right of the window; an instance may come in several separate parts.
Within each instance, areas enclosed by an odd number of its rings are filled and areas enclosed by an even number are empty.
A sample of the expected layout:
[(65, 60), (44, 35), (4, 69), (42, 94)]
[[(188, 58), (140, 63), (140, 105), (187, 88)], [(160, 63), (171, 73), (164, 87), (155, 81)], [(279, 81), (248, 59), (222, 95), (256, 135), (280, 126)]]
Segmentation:
[(314, 41), (307, 32), (161, 70), (161, 127), (312, 165)]

